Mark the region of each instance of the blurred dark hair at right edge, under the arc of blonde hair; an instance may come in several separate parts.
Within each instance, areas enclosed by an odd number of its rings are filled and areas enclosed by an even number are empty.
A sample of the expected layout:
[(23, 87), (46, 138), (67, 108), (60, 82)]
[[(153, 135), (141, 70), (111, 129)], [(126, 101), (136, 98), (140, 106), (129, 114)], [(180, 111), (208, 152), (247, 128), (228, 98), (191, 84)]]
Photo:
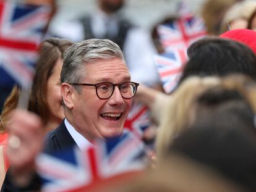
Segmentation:
[[(250, 128), (256, 136), (254, 111), (237, 90), (216, 87), (205, 91), (197, 100), (197, 118), (193, 125)], [(199, 118), (200, 117), (200, 118)]]

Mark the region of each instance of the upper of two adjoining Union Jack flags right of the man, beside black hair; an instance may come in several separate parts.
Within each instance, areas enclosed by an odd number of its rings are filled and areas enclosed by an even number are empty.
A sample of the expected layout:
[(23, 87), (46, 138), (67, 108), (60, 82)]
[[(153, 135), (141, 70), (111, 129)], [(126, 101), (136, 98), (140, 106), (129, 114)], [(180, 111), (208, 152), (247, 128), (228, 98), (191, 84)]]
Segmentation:
[(199, 17), (181, 17), (157, 27), (161, 44), (169, 49), (187, 49), (194, 41), (206, 36), (205, 26)]

